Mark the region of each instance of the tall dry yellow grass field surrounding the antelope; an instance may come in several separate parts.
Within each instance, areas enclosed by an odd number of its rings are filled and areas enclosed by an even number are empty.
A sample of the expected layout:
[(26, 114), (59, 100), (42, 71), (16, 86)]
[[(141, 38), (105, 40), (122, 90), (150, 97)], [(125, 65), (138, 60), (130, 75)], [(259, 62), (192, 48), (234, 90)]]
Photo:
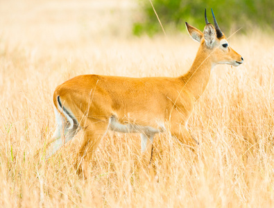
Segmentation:
[(0, 3), (0, 207), (272, 207), (274, 40), (260, 32), (230, 38), (244, 64), (216, 67), (196, 104), (196, 158), (168, 133), (155, 137), (158, 181), (141, 177), (134, 134), (109, 132), (87, 180), (72, 160), (80, 132), (35, 162), (55, 128), (60, 83), (83, 73), (179, 76), (194, 60), (187, 35), (132, 37), (135, 1), (98, 2)]

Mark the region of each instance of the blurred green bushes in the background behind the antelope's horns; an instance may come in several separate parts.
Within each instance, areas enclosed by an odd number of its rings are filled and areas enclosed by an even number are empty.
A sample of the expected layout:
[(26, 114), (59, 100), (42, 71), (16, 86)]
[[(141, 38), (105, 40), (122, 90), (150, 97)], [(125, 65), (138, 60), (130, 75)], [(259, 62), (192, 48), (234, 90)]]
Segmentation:
[[(223, 32), (228, 30), (241, 33), (252, 28), (263, 28), (273, 31), (274, 1), (273, 0), (151, 0), (166, 31), (185, 30), (185, 21), (203, 30), (205, 26), (204, 10), (207, 18), (212, 21), (210, 8), (213, 8), (218, 24)], [(149, 0), (139, 0), (142, 19), (135, 22), (132, 32), (135, 35), (154, 35), (162, 32), (155, 12)]]

